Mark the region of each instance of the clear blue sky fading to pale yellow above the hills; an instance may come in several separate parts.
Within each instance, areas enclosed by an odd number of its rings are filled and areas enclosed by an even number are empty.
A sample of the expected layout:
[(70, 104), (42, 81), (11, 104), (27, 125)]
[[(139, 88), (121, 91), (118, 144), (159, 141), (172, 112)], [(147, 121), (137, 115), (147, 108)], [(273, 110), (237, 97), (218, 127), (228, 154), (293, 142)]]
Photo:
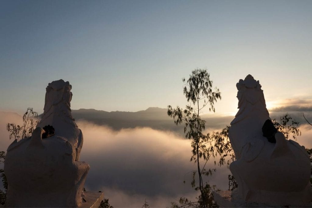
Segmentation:
[(251, 74), (268, 102), (311, 99), (312, 1), (1, 1), (0, 110), (43, 111), (63, 79), (72, 109), (185, 105), (182, 78), (207, 67), (235, 112)]

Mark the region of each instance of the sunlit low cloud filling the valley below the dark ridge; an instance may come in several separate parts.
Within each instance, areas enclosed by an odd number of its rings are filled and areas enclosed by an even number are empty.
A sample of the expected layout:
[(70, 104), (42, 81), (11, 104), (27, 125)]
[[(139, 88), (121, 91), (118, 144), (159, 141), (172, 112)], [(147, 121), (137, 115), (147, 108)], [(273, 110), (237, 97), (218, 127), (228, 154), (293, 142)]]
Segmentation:
[[(6, 123), (21, 121), (17, 114), (0, 113), (0, 151), (5, 151), (12, 142), (8, 139)], [(168, 207), (181, 196), (194, 200), (198, 195), (190, 184), (190, 172), (196, 166), (189, 162), (188, 139), (149, 127), (113, 130), (82, 120), (76, 123), (84, 135), (80, 160), (90, 164), (85, 188), (103, 191), (110, 205), (142, 207), (146, 199), (151, 207)], [(297, 142), (312, 148), (312, 126), (300, 125), (300, 129), (302, 136)], [(207, 167), (216, 167), (217, 172), (206, 180), (227, 190), (230, 171), (225, 166), (215, 166), (213, 160)]]

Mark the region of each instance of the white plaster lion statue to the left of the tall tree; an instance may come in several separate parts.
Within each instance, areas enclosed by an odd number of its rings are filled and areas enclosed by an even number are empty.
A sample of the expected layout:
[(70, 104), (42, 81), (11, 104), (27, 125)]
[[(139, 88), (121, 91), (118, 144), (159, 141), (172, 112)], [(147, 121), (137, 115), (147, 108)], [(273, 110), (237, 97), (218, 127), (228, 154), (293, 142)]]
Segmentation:
[[(32, 137), (15, 140), (7, 149), (6, 207), (78, 207), (90, 166), (80, 162), (83, 136), (71, 117), (71, 85), (53, 81), (46, 88), (44, 114)], [(42, 139), (42, 127), (55, 135)]]

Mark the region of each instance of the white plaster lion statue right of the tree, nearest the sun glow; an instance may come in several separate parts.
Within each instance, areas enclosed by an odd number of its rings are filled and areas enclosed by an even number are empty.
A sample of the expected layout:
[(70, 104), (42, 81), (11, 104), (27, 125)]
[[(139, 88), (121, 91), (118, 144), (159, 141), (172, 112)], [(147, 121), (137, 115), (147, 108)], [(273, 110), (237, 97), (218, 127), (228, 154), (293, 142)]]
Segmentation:
[[(275, 133), (276, 143), (262, 136), (270, 119), (263, 90), (251, 75), (239, 80), (238, 112), (229, 138), (236, 155), (230, 170), (238, 182), (233, 200), (268, 206), (310, 206), (310, 157), (304, 146)], [(270, 119), (271, 120), (271, 119)]]

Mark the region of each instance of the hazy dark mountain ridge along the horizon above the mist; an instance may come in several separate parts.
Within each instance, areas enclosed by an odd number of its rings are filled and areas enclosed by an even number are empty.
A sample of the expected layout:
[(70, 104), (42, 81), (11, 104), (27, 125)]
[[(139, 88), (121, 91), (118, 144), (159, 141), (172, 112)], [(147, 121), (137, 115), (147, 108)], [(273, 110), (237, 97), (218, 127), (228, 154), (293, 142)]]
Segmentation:
[[(300, 124), (307, 124), (302, 116), (303, 112), (288, 112), (290, 116), (299, 121)], [(305, 117), (311, 122), (312, 112), (304, 112)], [(279, 121), (280, 116), (285, 115), (286, 112), (270, 112), (271, 119), (276, 118)], [(40, 117), (41, 115), (39, 115)], [(167, 115), (167, 109), (150, 107), (146, 110), (137, 112), (124, 112), (124, 111), (112, 111), (107, 112), (104, 110), (95, 109), (79, 109), (72, 110), (72, 116), (76, 120), (85, 120), (98, 125), (106, 125), (115, 130), (122, 128), (135, 128), (135, 127), (150, 127), (153, 129), (163, 131), (173, 131), (180, 135), (183, 133), (183, 125), (176, 126), (173, 119)], [(206, 129), (221, 129), (234, 119), (234, 116), (220, 116), (218, 114), (203, 114), (202, 119), (206, 121)], [(4, 124), (6, 123), (22, 123), (21, 115), (12, 112), (0, 112), (0, 118), (2, 118)], [(15, 121), (16, 120), (16, 121)]]

